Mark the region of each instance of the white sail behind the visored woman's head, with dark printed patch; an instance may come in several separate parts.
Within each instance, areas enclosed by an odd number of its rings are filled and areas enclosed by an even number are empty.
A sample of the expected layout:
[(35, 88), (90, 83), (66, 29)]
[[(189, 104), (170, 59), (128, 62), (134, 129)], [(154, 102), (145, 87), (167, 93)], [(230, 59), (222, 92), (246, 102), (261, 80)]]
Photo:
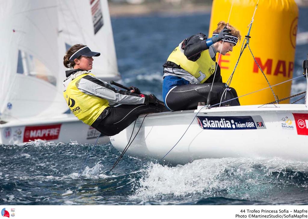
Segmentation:
[(107, 0), (59, 0), (58, 13), (62, 62), (67, 46), (81, 43), (101, 54), (94, 58), (93, 74), (120, 79)]

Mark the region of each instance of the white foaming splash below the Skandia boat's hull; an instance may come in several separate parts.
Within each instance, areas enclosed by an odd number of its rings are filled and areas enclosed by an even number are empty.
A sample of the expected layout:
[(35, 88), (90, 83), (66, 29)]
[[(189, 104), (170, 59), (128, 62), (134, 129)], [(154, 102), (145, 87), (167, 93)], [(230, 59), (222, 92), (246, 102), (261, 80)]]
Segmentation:
[(273, 173), (285, 174), (287, 170), (308, 173), (308, 162), (224, 158), (201, 159), (175, 167), (151, 163), (131, 198), (200, 193), (209, 197), (221, 194), (232, 198), (263, 197), (275, 186), (270, 181)]

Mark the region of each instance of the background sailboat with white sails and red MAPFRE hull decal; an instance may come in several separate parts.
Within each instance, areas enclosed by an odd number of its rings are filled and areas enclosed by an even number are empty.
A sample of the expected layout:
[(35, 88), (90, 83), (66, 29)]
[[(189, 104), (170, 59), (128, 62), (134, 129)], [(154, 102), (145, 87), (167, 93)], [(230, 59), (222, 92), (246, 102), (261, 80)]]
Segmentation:
[(67, 49), (82, 43), (101, 53), (91, 73), (120, 79), (107, 0), (2, 1), (0, 18), (0, 144), (94, 143), (99, 132), (63, 98), (62, 63)]

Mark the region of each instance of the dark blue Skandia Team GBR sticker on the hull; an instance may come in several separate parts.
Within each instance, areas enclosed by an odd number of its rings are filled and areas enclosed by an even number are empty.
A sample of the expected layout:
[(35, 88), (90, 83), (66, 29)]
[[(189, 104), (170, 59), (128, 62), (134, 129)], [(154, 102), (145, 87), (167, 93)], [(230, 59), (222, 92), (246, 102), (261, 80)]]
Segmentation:
[(266, 129), (261, 116), (197, 116), (202, 129)]

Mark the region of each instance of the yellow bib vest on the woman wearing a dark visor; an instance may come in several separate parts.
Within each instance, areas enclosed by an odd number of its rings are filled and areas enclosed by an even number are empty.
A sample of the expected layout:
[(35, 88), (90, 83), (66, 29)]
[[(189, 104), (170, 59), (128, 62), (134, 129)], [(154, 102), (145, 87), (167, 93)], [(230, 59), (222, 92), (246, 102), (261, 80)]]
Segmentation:
[(66, 90), (63, 91), (63, 96), (72, 113), (87, 125), (92, 125), (103, 110), (109, 106), (109, 102), (106, 99), (85, 94), (78, 90), (76, 82), (86, 75), (94, 76), (93, 74), (77, 76), (68, 83)]

